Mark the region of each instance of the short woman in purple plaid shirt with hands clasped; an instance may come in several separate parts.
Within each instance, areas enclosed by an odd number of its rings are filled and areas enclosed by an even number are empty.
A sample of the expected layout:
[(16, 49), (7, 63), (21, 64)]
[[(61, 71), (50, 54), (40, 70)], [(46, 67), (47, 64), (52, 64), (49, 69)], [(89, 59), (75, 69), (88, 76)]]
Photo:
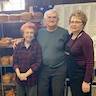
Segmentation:
[(37, 96), (37, 73), (41, 64), (41, 48), (34, 37), (36, 26), (25, 23), (21, 26), (24, 41), (20, 42), (13, 54), (17, 75), (16, 96)]

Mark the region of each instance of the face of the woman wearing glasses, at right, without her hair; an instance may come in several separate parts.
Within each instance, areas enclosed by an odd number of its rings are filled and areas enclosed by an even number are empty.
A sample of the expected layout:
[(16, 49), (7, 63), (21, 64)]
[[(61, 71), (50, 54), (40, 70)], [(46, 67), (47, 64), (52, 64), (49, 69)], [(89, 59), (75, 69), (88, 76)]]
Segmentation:
[(79, 17), (72, 16), (69, 21), (69, 28), (72, 33), (81, 32), (84, 28), (84, 24)]

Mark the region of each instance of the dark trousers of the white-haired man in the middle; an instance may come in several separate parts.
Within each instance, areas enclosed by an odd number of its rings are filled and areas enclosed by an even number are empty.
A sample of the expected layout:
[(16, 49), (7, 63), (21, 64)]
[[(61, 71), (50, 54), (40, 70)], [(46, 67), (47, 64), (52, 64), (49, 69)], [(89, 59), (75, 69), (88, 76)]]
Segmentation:
[(64, 96), (65, 77), (65, 65), (58, 68), (43, 66), (38, 79), (38, 96)]

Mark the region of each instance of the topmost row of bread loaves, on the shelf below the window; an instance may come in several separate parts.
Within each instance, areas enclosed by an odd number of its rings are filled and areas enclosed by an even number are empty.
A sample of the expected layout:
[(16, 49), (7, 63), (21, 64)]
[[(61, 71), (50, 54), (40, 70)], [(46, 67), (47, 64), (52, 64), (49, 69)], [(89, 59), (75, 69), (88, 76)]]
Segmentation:
[(31, 21), (43, 18), (42, 12), (22, 12), (20, 14), (0, 14), (0, 23), (13, 21)]

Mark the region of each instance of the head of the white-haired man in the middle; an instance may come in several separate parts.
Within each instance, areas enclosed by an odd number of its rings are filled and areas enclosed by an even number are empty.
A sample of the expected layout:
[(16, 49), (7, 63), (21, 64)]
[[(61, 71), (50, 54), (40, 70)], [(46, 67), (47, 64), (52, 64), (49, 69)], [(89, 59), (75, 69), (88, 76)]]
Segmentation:
[(59, 20), (59, 17), (56, 10), (50, 9), (44, 13), (44, 23), (46, 27), (48, 28), (57, 27), (58, 20)]

